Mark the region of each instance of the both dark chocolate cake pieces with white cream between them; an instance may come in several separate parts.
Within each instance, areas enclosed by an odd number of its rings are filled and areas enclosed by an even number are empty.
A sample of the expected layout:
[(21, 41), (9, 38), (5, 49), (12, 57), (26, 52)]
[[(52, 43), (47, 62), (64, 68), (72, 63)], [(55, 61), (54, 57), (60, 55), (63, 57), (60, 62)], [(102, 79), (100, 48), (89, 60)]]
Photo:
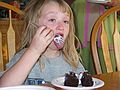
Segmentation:
[(93, 86), (94, 81), (88, 72), (81, 72), (79, 75), (76, 75), (74, 72), (65, 74), (64, 86), (78, 87), (79, 83), (88, 87)]

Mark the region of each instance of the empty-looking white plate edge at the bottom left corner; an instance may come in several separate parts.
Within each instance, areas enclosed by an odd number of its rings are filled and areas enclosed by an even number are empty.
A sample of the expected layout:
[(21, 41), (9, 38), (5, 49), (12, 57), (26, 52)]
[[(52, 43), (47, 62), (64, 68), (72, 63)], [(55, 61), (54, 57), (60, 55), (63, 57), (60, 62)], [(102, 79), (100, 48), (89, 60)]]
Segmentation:
[(55, 90), (55, 89), (46, 86), (21, 85), (21, 86), (3, 87), (0, 88), (0, 90)]

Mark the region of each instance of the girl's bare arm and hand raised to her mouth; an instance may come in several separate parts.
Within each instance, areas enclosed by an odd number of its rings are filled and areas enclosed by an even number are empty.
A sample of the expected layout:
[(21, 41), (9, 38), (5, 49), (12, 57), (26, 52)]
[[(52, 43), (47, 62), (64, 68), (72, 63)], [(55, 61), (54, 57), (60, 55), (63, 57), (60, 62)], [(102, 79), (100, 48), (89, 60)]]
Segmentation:
[(0, 78), (0, 86), (13, 86), (22, 84), (39, 56), (45, 51), (46, 47), (54, 38), (52, 30), (45, 26), (40, 27), (30, 47), (26, 50), (20, 60)]

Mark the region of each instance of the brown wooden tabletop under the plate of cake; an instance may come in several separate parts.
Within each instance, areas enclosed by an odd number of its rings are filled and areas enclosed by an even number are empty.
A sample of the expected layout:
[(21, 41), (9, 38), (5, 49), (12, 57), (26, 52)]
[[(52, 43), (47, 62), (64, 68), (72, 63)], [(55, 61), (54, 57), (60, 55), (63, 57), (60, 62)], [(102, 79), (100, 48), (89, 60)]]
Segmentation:
[[(96, 90), (120, 90), (120, 72), (93, 75), (93, 77), (101, 79), (105, 82), (105, 85), (103, 87)], [(45, 84), (45, 86), (53, 87), (56, 90), (63, 90), (51, 84)]]

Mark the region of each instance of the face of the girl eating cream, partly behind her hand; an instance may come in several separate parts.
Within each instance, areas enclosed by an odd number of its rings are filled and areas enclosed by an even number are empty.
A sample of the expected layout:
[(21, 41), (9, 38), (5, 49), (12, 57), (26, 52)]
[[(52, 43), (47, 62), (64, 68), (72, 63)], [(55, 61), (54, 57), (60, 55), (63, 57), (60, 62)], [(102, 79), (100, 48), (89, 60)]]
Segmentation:
[[(43, 7), (38, 24), (40, 26), (46, 25), (54, 31), (55, 35), (62, 35), (65, 41), (69, 34), (69, 21), (70, 15), (67, 12), (63, 12), (57, 3), (51, 1)], [(58, 50), (54, 41), (52, 41), (49, 48)]]

